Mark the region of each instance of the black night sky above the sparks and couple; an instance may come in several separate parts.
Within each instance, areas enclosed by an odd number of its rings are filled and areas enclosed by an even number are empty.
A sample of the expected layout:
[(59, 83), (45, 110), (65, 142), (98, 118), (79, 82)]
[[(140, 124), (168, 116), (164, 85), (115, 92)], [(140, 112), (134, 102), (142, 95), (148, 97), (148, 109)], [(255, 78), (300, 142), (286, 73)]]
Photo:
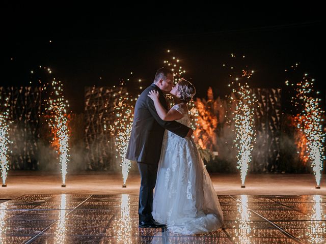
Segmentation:
[[(37, 77), (36, 72), (31, 78), (31, 70), (50, 67), (64, 82), (75, 112), (84, 109), (84, 86), (111, 86), (119, 78), (130, 78), (129, 89), (136, 89), (140, 78), (143, 86), (149, 85), (167, 49), (181, 60), (197, 97), (204, 97), (208, 86), (217, 96), (229, 94), (230, 70), (222, 64), (248, 65), (255, 71), (249, 81), (253, 87), (283, 87), (284, 70), (300, 62), (301, 71), (325, 90), (320, 6), (3, 7), (0, 86), (29, 85)], [(231, 60), (231, 53), (237, 58)], [(242, 55), (246, 58), (238, 58)]]

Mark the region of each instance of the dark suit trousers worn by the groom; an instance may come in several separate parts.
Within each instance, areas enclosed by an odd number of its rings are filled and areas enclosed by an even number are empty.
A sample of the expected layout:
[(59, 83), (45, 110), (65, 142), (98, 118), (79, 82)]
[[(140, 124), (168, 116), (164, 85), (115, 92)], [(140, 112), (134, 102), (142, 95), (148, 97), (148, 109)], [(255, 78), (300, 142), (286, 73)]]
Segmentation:
[(141, 174), (141, 188), (139, 190), (138, 214), (139, 221), (150, 221), (153, 211), (153, 190), (156, 184), (158, 163), (147, 164), (137, 162)]

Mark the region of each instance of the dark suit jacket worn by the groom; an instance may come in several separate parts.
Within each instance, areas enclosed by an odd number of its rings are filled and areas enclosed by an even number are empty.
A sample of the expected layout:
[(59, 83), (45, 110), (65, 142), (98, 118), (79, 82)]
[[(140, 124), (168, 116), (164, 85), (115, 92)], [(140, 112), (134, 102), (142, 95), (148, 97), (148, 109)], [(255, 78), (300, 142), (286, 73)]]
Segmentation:
[(160, 119), (153, 100), (147, 96), (150, 90), (158, 91), (160, 103), (168, 109), (162, 91), (154, 83), (142, 92), (134, 108), (133, 124), (126, 159), (156, 164), (160, 158), (165, 129), (184, 138), (189, 128), (176, 121), (164, 121)]

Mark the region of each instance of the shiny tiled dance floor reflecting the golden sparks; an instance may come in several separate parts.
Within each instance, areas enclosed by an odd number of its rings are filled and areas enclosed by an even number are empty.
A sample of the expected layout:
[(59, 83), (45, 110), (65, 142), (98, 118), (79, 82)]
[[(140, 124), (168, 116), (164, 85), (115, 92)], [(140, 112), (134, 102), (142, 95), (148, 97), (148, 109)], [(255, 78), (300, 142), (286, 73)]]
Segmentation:
[(138, 227), (137, 195), (23, 195), (0, 203), (0, 243), (326, 243), (326, 197), (219, 195), (227, 227)]

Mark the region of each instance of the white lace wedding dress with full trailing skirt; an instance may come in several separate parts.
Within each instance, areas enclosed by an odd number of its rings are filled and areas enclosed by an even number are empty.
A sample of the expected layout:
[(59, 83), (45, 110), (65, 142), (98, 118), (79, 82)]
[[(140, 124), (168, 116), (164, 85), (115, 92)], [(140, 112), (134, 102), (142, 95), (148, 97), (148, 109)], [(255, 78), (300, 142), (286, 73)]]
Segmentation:
[[(188, 111), (178, 104), (171, 109), (182, 113), (184, 117), (176, 121), (188, 126)], [(168, 231), (184, 235), (222, 227), (221, 205), (193, 138), (165, 131), (152, 215)]]

